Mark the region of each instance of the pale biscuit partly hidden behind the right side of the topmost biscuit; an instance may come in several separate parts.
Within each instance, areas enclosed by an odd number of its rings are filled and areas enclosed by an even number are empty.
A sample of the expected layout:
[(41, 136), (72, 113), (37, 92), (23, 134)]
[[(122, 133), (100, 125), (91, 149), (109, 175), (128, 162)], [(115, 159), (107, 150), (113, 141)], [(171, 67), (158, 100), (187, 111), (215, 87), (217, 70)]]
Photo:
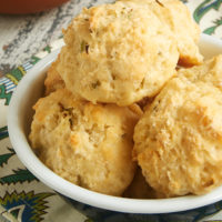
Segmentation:
[(149, 4), (149, 9), (167, 24), (175, 38), (180, 52), (179, 64), (191, 67), (203, 61), (198, 42), (200, 28), (194, 22), (185, 4), (180, 0), (121, 0), (134, 1), (139, 4)]

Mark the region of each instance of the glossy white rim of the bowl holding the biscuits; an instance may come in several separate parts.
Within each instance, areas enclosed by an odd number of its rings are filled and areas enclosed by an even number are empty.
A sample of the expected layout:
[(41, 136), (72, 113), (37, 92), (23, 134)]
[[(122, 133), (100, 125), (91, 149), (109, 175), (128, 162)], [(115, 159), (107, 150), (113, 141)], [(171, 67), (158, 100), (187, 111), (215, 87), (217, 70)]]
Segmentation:
[[(201, 41), (209, 46), (219, 46), (222, 52), (222, 41), (201, 34)], [(48, 169), (31, 150), (24, 132), (20, 130), (19, 109), (22, 98), (29, 89), (30, 83), (37, 80), (38, 75), (46, 72), (52, 61), (57, 58), (60, 49), (53, 51), (41, 61), (39, 61), (19, 82), (12, 94), (8, 111), (8, 131), (11, 144), (21, 162), (30, 170), (41, 182), (54, 191), (73, 199), (75, 201), (89, 204), (95, 208), (111, 210), (123, 213), (170, 213), (192, 210), (208, 205), (222, 200), (222, 185), (204, 195), (185, 195), (179, 198), (141, 200), (118, 198), (97, 193), (84, 188), (80, 188)], [(19, 138), (19, 140), (18, 140)]]

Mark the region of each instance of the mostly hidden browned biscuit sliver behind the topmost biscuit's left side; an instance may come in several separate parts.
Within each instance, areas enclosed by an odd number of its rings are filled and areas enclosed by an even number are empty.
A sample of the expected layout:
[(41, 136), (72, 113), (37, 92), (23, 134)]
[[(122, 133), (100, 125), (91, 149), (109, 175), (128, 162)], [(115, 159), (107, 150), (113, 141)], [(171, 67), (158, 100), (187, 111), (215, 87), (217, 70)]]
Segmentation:
[(56, 91), (57, 89), (64, 88), (64, 81), (60, 77), (59, 72), (57, 71), (57, 65), (60, 62), (60, 58), (58, 56), (57, 60), (52, 62), (49, 70), (47, 71), (47, 78), (44, 80), (46, 91), (44, 94), (48, 95), (51, 92)]

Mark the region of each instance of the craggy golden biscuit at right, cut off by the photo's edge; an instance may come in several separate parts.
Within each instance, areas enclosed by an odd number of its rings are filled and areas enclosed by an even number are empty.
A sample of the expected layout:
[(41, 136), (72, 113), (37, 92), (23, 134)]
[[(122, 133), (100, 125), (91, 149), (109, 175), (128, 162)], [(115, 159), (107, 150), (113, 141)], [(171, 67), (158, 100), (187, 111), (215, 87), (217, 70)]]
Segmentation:
[(222, 184), (222, 56), (179, 71), (134, 129), (133, 155), (167, 196)]

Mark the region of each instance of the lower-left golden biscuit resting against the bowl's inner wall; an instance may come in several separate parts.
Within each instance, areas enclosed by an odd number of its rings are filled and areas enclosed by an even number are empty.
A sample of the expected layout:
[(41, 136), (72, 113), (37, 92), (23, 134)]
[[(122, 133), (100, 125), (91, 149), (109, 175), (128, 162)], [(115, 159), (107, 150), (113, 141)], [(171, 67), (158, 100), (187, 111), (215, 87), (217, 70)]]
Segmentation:
[(138, 114), (114, 104), (92, 104), (59, 89), (34, 105), (31, 147), (52, 171), (83, 188), (121, 195), (131, 183)]

